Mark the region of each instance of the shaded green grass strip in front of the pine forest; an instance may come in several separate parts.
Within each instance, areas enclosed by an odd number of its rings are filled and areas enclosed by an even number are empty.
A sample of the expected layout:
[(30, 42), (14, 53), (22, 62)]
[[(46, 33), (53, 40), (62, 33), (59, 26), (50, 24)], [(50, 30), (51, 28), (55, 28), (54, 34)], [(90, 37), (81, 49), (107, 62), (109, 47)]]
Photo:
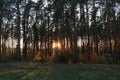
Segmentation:
[(4, 63), (0, 80), (120, 80), (120, 66)]

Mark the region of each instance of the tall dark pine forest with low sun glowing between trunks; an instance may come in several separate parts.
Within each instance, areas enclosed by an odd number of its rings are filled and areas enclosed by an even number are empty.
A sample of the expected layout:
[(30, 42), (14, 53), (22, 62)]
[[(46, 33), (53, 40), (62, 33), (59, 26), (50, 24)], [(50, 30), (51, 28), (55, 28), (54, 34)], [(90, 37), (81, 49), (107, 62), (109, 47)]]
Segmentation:
[(120, 62), (120, 0), (0, 0), (0, 60)]

